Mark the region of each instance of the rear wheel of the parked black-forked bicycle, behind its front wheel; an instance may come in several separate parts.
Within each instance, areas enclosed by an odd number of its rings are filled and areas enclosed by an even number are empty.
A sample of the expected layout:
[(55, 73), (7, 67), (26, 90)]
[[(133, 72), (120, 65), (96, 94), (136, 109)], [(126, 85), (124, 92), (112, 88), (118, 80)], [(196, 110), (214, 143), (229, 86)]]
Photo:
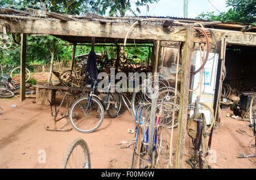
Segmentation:
[(110, 118), (117, 117), (121, 109), (121, 95), (119, 93), (109, 93), (107, 109)]

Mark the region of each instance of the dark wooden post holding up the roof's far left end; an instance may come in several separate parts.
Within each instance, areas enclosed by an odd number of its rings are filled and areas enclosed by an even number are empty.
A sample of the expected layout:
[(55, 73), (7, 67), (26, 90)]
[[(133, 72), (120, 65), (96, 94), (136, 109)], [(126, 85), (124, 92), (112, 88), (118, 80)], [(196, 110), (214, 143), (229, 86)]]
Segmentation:
[(20, 101), (25, 100), (27, 34), (21, 34), (20, 44)]

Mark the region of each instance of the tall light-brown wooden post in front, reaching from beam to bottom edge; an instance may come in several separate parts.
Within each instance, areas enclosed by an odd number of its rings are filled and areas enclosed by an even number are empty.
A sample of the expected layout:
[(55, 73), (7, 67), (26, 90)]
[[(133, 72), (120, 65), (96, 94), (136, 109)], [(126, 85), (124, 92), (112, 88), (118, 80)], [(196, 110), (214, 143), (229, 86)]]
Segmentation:
[(182, 61), (182, 76), (180, 89), (180, 109), (177, 127), (177, 145), (175, 168), (183, 168), (183, 156), (185, 147), (186, 127), (188, 118), (188, 97), (189, 82), (191, 76), (191, 54), (193, 46), (193, 25), (187, 25), (186, 41), (184, 45), (184, 55)]

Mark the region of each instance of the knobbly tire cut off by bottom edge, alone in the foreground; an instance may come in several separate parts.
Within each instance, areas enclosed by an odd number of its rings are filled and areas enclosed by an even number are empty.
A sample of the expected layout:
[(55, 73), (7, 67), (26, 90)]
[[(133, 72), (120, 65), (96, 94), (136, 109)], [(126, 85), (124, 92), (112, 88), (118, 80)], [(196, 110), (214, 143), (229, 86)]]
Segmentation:
[[(73, 151), (77, 146), (80, 145), (82, 148), (82, 151), (84, 153), (84, 161), (80, 161), (82, 162), (82, 168), (84, 169), (90, 169), (90, 151), (89, 151), (89, 147), (87, 145), (87, 143), (85, 142), (84, 139), (81, 138), (76, 138), (74, 139), (69, 145), (68, 148), (66, 149), (61, 162), (60, 162), (60, 169), (67, 169), (68, 165), (70, 166), (71, 164), (69, 164), (69, 159), (71, 158), (71, 156), (73, 156)], [(77, 153), (77, 151), (76, 151)], [(75, 164), (77, 165), (77, 164)], [(72, 168), (72, 167), (71, 167)], [(77, 169), (77, 167), (76, 167)]]

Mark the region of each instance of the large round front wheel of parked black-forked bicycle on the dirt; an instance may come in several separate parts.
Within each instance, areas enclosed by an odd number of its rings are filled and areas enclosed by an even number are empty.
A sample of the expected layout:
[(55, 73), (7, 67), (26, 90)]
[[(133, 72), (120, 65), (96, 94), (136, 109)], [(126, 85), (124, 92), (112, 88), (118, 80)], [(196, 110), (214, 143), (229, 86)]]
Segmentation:
[[(89, 109), (86, 112), (86, 109)], [(99, 100), (88, 97), (76, 100), (69, 111), (69, 120), (75, 130), (83, 133), (90, 133), (101, 126), (104, 119), (104, 108)]]

